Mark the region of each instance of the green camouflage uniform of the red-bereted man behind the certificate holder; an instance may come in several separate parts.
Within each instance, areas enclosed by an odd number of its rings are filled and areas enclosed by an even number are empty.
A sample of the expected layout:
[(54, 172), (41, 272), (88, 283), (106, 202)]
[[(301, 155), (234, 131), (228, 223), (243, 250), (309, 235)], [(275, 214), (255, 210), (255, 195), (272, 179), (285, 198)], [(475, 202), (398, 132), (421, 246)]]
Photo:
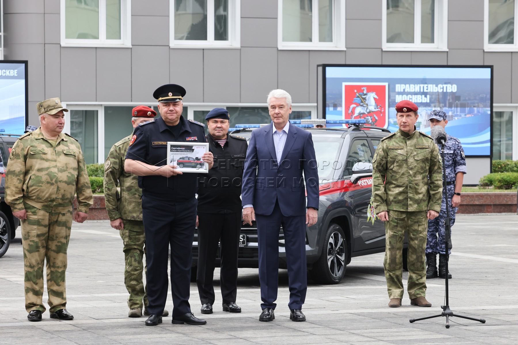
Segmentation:
[[(124, 242), (124, 284), (130, 293), (128, 307), (142, 308), (148, 305), (148, 298), (142, 282), (142, 263), (145, 253), (144, 224), (142, 222), (142, 190), (138, 187), (138, 176), (124, 171), (126, 152), (132, 136), (115, 143), (104, 164), (104, 196), (106, 211), (110, 220), (122, 218), (124, 229), (120, 230)], [(117, 187), (120, 186), (120, 192)]]

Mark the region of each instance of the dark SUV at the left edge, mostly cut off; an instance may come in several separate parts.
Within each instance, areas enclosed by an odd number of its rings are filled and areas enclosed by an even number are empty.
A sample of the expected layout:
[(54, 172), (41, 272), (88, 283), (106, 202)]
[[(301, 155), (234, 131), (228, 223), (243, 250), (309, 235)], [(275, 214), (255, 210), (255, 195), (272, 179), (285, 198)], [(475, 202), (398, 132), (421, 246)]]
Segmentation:
[[(0, 154), (4, 161), (4, 169), (9, 161), (12, 145), (20, 137), (17, 134), (0, 135)], [(4, 256), (11, 243), (11, 238), (15, 238), (16, 229), (20, 225), (20, 220), (12, 216), (11, 207), (5, 203), (5, 174), (2, 174), (0, 183), (0, 258)]]

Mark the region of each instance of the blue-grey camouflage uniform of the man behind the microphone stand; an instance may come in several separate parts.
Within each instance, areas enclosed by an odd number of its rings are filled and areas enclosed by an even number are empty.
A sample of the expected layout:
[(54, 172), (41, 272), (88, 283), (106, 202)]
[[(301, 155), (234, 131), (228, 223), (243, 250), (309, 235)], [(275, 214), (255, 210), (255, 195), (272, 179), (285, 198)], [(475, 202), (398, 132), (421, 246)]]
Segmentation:
[[(446, 188), (448, 189), (448, 205), (450, 206), (450, 230), (455, 223), (455, 213), (458, 207), (452, 206), (452, 197), (455, 192), (455, 176), (457, 173), (466, 173), (466, 157), (464, 156), (464, 149), (461, 141), (457, 138), (447, 135), (448, 139), (444, 145), (444, 167), (446, 170), (445, 181), (451, 183)], [(442, 146), (442, 145), (440, 145)], [(439, 148), (441, 148), (439, 146)], [(446, 194), (442, 193), (442, 205), (439, 216), (435, 219), (428, 220), (428, 233), (426, 240), (426, 253), (432, 254), (446, 254), (446, 247), (444, 245), (444, 220), (446, 219)], [(437, 238), (438, 237), (438, 238)], [(448, 250), (451, 254), (451, 250)]]

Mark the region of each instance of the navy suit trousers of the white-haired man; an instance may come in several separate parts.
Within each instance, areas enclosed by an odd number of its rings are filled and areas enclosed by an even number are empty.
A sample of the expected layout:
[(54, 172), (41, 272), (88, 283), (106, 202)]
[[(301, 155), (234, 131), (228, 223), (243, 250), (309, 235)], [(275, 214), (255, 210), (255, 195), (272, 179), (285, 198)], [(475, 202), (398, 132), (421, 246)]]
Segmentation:
[(273, 308), (279, 285), (279, 231), (282, 224), (290, 288), (290, 309), (302, 309), (308, 290), (306, 277), (306, 217), (286, 217), (276, 200), (270, 215), (255, 215), (259, 249), (261, 308)]

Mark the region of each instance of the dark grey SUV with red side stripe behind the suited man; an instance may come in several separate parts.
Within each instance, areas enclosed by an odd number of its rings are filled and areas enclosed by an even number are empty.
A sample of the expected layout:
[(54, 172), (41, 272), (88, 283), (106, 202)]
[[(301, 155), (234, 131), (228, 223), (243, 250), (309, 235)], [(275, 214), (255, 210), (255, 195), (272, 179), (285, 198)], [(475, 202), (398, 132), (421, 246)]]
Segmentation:
[[(306, 259), (316, 283), (338, 283), (351, 258), (385, 251), (385, 228), (367, 218), (372, 187), (372, 157), (390, 131), (362, 125), (310, 128), (318, 161), (320, 206), (318, 222), (306, 230)], [(252, 129), (234, 131), (250, 138)], [(239, 267), (258, 267), (255, 223), (241, 227)], [(403, 262), (406, 269), (407, 241)], [(279, 235), (279, 268), (286, 268), (284, 234)], [(197, 232), (193, 243), (192, 279), (198, 259)], [(219, 254), (216, 265), (220, 264)]]

